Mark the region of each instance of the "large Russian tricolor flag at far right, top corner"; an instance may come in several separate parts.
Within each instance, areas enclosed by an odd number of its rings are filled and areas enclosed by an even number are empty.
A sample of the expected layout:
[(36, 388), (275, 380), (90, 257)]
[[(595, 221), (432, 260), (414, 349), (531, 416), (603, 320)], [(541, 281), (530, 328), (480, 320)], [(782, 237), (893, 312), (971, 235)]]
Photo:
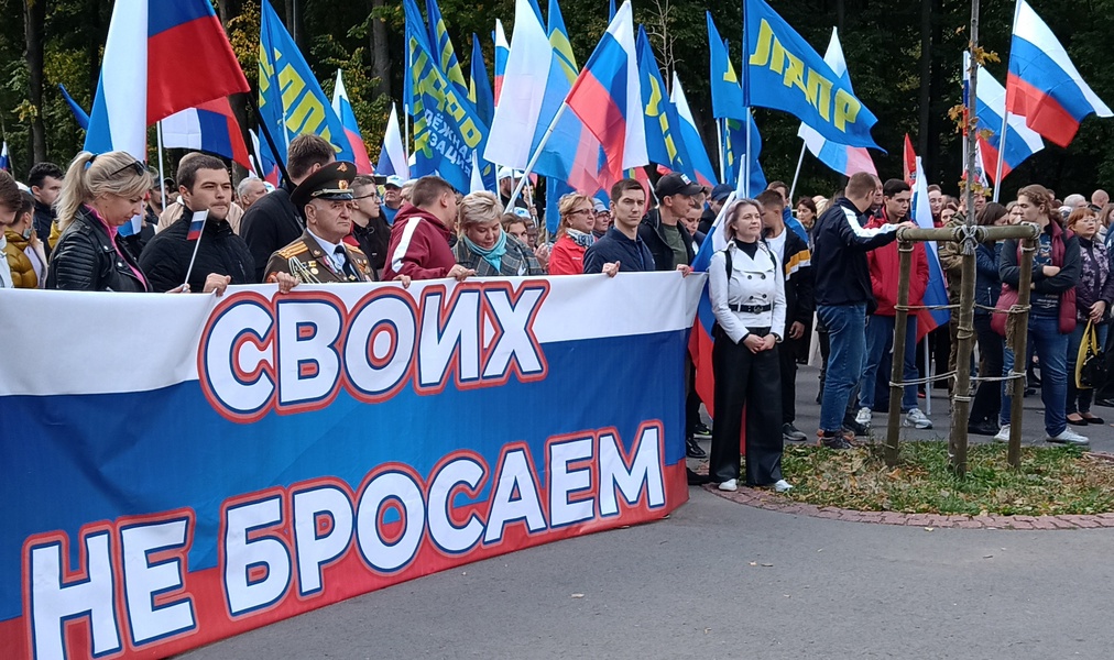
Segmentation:
[[(1071, 144), (1087, 115), (1114, 116), (1083, 81), (1059, 40), (1025, 0), (1018, 0), (1014, 14), (1006, 106), (1012, 114), (1025, 117), (1029, 128), (1061, 147)], [(1008, 150), (1008, 137), (1006, 145)]]

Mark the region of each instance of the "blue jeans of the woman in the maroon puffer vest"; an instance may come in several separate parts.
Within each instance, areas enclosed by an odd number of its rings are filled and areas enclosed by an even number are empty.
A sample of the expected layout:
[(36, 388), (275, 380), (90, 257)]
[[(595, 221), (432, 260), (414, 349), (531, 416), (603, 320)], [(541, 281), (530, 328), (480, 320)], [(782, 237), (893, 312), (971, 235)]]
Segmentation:
[[(1040, 359), (1040, 402), (1045, 405), (1045, 433), (1059, 435), (1067, 428), (1064, 406), (1067, 401), (1068, 335), (1059, 334), (1059, 319), (1055, 316), (1029, 316), (1029, 338)], [(1014, 352), (1008, 346), (1004, 357), (1005, 374), (1014, 368)], [(1009, 424), (1012, 398), (1006, 387), (1003, 387), (998, 421), (1004, 425)]]

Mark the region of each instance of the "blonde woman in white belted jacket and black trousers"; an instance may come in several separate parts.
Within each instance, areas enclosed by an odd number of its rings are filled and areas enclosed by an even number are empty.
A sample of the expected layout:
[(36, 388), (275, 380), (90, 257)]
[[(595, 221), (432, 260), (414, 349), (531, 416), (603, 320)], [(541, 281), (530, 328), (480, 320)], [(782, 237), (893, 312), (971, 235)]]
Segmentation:
[(709, 266), (715, 314), (715, 426), (709, 477), (721, 491), (737, 487), (739, 439), (746, 408), (746, 485), (784, 492), (781, 475), (781, 367), (785, 280), (762, 236), (762, 207), (736, 201), (724, 223), (727, 247)]

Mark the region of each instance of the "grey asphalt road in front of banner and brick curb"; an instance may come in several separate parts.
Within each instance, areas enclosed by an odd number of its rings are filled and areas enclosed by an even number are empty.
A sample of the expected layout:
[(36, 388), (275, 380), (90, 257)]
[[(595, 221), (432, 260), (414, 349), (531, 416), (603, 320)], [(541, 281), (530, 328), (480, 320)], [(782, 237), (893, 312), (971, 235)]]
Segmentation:
[[(801, 376), (799, 398), (811, 402), (809, 372)], [(910, 435), (947, 434), (947, 402), (936, 402), (935, 432)], [(1030, 442), (1043, 437), (1038, 405), (1026, 400)], [(801, 406), (807, 432), (815, 407)], [(1095, 449), (1114, 450), (1114, 428), (1089, 435)], [(756, 510), (702, 489), (691, 495), (664, 521), (430, 575), (183, 658), (1114, 653), (1114, 530), (926, 531)]]

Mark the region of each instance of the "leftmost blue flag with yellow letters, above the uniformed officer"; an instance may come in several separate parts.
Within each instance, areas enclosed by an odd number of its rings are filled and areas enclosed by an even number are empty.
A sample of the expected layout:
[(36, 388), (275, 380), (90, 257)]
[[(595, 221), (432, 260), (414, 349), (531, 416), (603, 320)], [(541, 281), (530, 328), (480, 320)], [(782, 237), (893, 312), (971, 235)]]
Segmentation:
[(260, 114), (283, 162), (290, 140), (303, 134), (328, 140), (338, 160), (355, 160), (344, 125), (267, 0), (260, 23)]

